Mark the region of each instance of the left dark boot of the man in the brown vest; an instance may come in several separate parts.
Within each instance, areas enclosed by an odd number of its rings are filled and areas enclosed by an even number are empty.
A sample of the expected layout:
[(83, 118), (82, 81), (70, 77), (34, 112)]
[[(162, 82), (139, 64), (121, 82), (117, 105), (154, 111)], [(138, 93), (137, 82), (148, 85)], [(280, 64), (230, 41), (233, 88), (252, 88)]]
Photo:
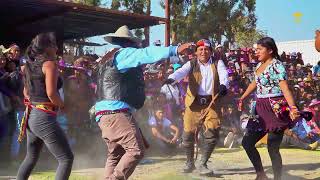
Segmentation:
[(183, 145), (187, 155), (187, 162), (182, 169), (183, 173), (191, 173), (195, 170), (194, 165), (194, 134), (186, 133), (183, 134)]

